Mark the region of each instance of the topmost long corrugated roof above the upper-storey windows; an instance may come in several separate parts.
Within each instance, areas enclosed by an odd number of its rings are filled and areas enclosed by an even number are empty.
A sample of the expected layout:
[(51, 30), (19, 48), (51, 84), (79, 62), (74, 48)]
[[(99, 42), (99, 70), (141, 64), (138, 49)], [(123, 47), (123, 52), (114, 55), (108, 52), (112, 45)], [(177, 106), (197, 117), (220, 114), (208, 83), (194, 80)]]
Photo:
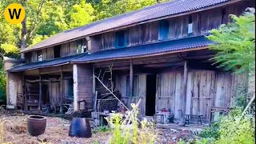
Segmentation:
[(32, 49), (39, 49), (61, 42), (66, 42), (74, 38), (80, 38), (89, 34), (95, 34), (122, 26), (129, 26), (138, 22), (146, 22), (150, 19), (162, 18), (172, 14), (180, 14), (191, 10), (198, 10), (207, 6), (214, 6), (219, 3), (228, 1), (232, 0), (174, 0), (154, 6), (148, 6), (142, 10), (136, 10), (134, 12), (121, 14), (112, 18), (106, 18), (98, 22), (93, 22), (86, 26), (63, 31), (62, 33), (56, 34), (34, 46), (30, 46), (21, 51), (24, 52)]

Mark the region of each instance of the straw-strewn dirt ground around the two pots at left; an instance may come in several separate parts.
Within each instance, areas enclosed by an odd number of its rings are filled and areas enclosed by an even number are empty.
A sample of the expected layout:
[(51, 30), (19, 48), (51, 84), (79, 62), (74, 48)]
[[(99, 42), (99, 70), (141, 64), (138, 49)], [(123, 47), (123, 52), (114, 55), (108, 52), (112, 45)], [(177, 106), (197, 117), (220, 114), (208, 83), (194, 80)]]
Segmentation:
[[(18, 116), (0, 116), (3, 123), (3, 138), (4, 142), (12, 142), (17, 144), (38, 144), (38, 138), (46, 138), (46, 142), (53, 144), (80, 144), (80, 143), (105, 143), (110, 134), (96, 133), (92, 138), (70, 138), (68, 131), (70, 121), (62, 118), (47, 117), (46, 131), (38, 137), (32, 137), (28, 134), (26, 128), (27, 115)], [(1, 137), (1, 135), (0, 135)]]

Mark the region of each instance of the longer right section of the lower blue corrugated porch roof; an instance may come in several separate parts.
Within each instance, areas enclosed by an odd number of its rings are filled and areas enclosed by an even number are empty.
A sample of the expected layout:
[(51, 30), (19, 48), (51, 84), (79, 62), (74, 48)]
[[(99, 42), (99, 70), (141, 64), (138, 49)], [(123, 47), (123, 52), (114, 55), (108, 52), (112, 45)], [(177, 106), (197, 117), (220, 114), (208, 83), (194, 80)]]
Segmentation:
[(93, 54), (86, 54), (81, 58), (72, 60), (76, 62), (92, 62), (99, 60), (110, 60), (113, 58), (130, 58), (149, 54), (161, 54), (175, 50), (186, 50), (201, 46), (209, 46), (214, 42), (205, 38), (205, 36), (182, 38), (168, 42), (158, 42), (154, 44), (126, 47), (114, 50), (99, 51)]

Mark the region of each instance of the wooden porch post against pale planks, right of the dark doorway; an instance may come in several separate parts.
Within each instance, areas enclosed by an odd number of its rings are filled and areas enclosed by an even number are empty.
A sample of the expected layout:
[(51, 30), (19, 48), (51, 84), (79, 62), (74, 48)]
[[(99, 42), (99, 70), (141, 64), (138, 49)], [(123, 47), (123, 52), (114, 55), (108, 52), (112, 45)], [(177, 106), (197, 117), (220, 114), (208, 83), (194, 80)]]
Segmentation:
[(187, 70), (187, 61), (184, 61), (184, 76), (183, 76), (183, 83), (182, 83), (182, 117), (180, 120), (180, 123), (183, 124), (184, 118), (185, 118), (185, 112), (186, 112), (186, 87), (187, 87), (187, 76), (188, 76), (188, 70)]

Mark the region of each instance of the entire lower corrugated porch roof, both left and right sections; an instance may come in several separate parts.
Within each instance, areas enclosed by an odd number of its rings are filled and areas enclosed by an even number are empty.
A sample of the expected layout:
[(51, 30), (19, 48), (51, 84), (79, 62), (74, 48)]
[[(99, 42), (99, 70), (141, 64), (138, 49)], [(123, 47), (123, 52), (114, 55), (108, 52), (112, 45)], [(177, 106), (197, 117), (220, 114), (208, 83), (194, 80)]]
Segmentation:
[(69, 57), (46, 60), (42, 62), (34, 62), (15, 66), (8, 70), (9, 72), (19, 72), (24, 70), (33, 70), (42, 67), (64, 65), (67, 63), (94, 62), (111, 60), (114, 58), (130, 58), (136, 56), (161, 54), (175, 50), (186, 50), (201, 46), (209, 46), (214, 42), (205, 38), (205, 36), (182, 38), (166, 42), (156, 42), (147, 45), (130, 46), (126, 48), (98, 51), (93, 54), (76, 54)]

